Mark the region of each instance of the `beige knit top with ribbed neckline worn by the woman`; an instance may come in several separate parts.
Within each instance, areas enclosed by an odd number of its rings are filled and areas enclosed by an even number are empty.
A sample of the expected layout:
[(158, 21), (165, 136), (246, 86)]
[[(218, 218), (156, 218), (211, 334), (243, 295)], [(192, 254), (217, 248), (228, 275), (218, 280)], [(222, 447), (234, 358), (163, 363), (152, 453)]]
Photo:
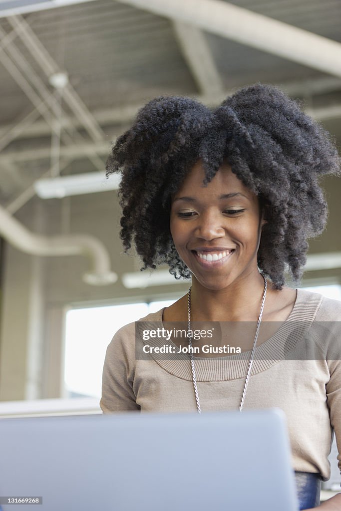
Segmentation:
[[(113, 337), (103, 369), (103, 413), (196, 410), (188, 357), (145, 354), (141, 330), (162, 327), (163, 310)], [(142, 325), (142, 326), (141, 326)], [(256, 350), (244, 410), (285, 412), (295, 471), (330, 477), (332, 429), (341, 453), (341, 302), (298, 289), (279, 330)], [(163, 343), (153, 340), (154, 345)], [(148, 341), (151, 344), (151, 341)], [(250, 352), (195, 357), (201, 411), (239, 407)], [(341, 471), (341, 455), (338, 456)]]

